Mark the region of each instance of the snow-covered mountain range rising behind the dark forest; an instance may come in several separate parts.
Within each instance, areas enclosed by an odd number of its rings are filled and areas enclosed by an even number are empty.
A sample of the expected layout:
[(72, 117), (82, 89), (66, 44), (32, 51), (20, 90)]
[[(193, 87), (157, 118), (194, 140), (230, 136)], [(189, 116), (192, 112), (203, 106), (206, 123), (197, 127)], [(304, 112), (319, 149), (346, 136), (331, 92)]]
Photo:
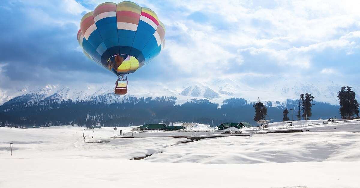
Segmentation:
[[(209, 82), (186, 82), (182, 86), (174, 83), (143, 83), (130, 82), (128, 94), (125, 96), (113, 94), (112, 83), (105, 84), (78, 84), (75, 86), (46, 85), (38, 88), (25, 86), (17, 90), (0, 89), (0, 105), (18, 97), (26, 98), (26, 101), (38, 100), (88, 100), (101, 98), (107, 102), (121, 101), (129, 96), (156, 97), (175, 96), (177, 104), (182, 104), (191, 99), (206, 98), (211, 102), (222, 104), (226, 98), (241, 97), (250, 101), (256, 101), (258, 97), (262, 101), (283, 101), (286, 98), (296, 99), (301, 93), (311, 93), (315, 100), (338, 104), (337, 92), (342, 84), (329, 81), (317, 83), (304, 83), (290, 81), (279, 77), (274, 84), (252, 87), (251, 84), (230, 78), (216, 79)], [(360, 93), (359, 85), (350, 85), (356, 93)], [(357, 95), (359, 98), (360, 94)], [(273, 102), (275, 104), (275, 102)]]

